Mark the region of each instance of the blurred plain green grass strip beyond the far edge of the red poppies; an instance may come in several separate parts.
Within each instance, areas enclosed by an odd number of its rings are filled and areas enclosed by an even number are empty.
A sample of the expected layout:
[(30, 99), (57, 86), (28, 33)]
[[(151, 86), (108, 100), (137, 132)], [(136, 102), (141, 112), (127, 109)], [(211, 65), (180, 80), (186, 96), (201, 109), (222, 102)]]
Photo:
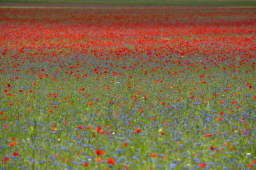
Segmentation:
[(36, 4), (116, 4), (116, 5), (170, 5), (170, 6), (256, 6), (256, 1), (224, 0), (0, 0), (0, 3), (36, 3)]

